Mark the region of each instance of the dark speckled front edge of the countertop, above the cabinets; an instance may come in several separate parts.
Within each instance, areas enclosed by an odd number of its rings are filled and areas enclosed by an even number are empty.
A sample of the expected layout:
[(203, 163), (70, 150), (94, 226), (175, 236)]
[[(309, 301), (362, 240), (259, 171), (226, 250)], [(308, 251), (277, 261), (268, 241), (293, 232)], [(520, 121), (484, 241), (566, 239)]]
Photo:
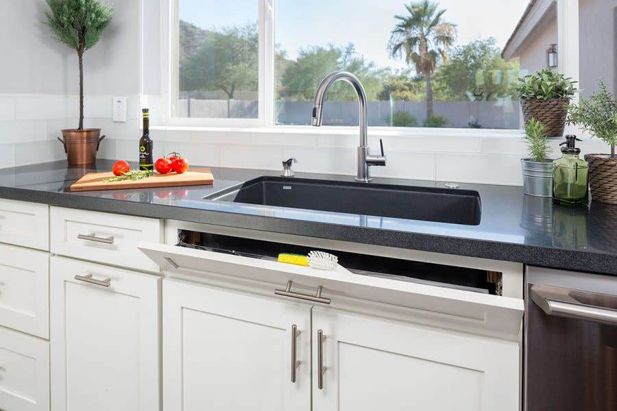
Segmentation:
[(50, 206), (98, 212), (130, 214), (156, 219), (190, 221), (258, 231), (328, 238), (346, 242), (413, 249), (489, 260), (519, 262), (555, 269), (567, 269), (617, 275), (617, 256), (588, 250), (572, 251), (555, 247), (518, 245), (509, 242), (439, 236), (367, 227), (350, 227), (315, 221), (295, 221), (269, 216), (255, 216), (222, 211), (180, 208), (160, 204), (136, 203), (97, 197), (67, 196), (62, 192), (43, 192), (25, 188), (0, 187), (0, 198), (45, 203)]

